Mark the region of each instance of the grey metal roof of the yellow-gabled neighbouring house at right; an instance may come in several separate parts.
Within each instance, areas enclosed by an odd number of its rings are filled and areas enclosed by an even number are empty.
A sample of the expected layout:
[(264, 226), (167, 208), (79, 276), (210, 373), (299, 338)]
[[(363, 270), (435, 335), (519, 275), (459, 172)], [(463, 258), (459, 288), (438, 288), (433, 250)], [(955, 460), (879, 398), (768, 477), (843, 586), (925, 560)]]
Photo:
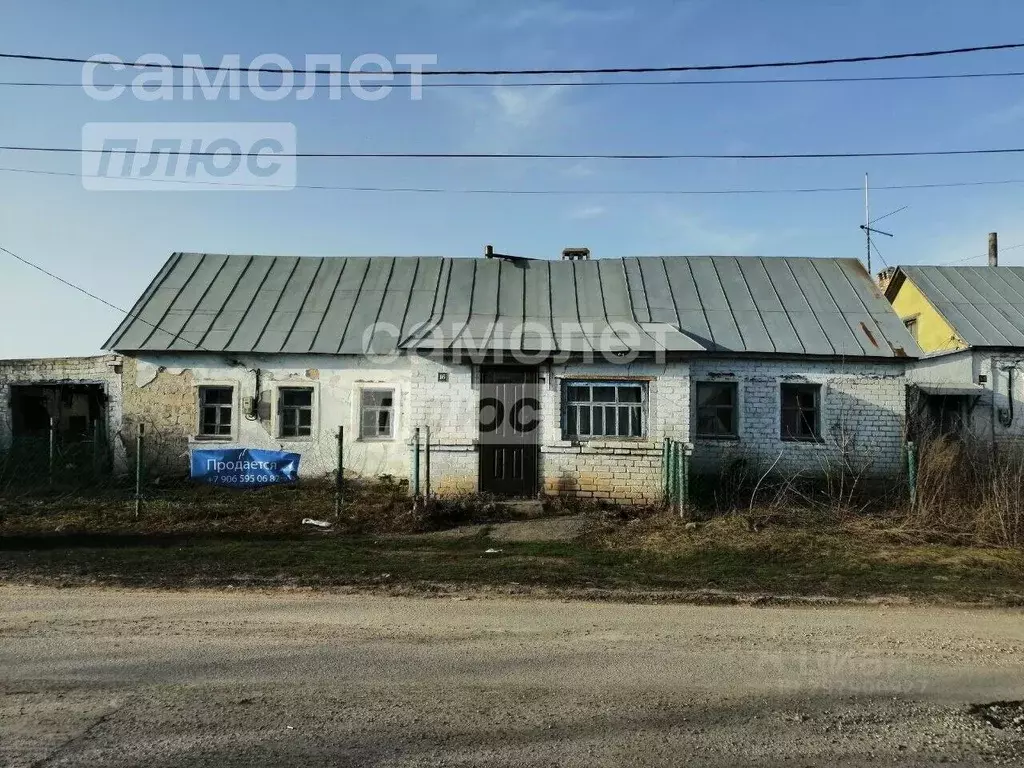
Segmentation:
[(911, 281), (969, 346), (1024, 346), (1024, 267), (901, 266), (897, 278)]

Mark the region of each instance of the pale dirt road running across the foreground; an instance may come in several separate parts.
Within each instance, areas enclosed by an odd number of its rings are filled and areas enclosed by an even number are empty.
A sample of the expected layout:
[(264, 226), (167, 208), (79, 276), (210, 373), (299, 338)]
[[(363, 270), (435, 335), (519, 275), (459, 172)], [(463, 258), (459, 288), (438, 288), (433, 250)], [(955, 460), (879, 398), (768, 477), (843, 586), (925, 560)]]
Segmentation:
[(17, 768), (1020, 765), (1024, 614), (0, 587), (0, 693)]

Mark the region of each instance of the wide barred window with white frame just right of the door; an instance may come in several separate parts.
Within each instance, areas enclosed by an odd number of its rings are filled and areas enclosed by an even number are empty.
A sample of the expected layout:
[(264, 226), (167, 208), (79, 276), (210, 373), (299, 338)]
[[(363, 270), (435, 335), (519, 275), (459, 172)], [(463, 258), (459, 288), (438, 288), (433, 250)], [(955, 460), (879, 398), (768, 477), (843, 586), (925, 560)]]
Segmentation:
[(567, 381), (563, 386), (562, 439), (646, 434), (646, 382)]

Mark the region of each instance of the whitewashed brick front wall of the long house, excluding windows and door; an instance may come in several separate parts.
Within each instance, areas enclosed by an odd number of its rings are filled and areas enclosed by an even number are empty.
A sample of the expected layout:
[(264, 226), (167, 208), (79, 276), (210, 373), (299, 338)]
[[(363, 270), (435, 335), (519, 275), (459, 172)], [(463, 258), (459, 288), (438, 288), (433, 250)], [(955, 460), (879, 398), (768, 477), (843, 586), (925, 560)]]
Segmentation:
[[(478, 482), (479, 369), (426, 357), (399, 357), (386, 364), (346, 357), (295, 355), (246, 356), (231, 367), (206, 355), (161, 355), (143, 360), (138, 396), (146, 397), (146, 379), (190, 373), (186, 386), (233, 383), (248, 393), (255, 386), (251, 369), (262, 371), (262, 388), (311, 382), (317, 389), (317, 432), (306, 440), (283, 441), (262, 422), (240, 421), (236, 441), (256, 447), (284, 446), (302, 453), (303, 473), (336, 468), (334, 434), (346, 428), (346, 469), (373, 476), (411, 475), (411, 440), (416, 427), (431, 431), (433, 488), (445, 495), (473, 493)], [(446, 375), (439, 381), (438, 374)], [(669, 364), (616, 366), (546, 365), (540, 369), (542, 423), (540, 472), (549, 494), (577, 495), (627, 503), (656, 503), (662, 496), (663, 442), (691, 441), (695, 472), (717, 472), (728, 458), (743, 453), (773, 462), (780, 471), (823, 471), (829, 457), (846, 444), (869, 458), (877, 474), (899, 470), (905, 378), (901, 364), (847, 364), (701, 359)], [(691, 382), (724, 378), (739, 383), (739, 436), (734, 440), (692, 439), (695, 403)], [(647, 382), (648, 421), (640, 439), (562, 439), (562, 385), (573, 378), (633, 378)], [(808, 381), (822, 385), (821, 443), (783, 442), (779, 428), (779, 385)], [(395, 387), (397, 432), (393, 441), (362, 442), (358, 434), (358, 388)], [(186, 419), (190, 423), (191, 420)], [(176, 427), (181, 429), (180, 424)], [(844, 438), (849, 435), (849, 439)], [(191, 435), (189, 435), (190, 437)]]

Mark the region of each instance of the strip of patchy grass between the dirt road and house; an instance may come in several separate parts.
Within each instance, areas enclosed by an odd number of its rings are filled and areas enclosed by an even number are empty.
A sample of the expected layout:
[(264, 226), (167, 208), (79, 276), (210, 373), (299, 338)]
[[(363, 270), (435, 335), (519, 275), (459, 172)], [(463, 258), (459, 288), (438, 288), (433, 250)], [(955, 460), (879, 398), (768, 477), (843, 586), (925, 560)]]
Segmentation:
[[(496, 549), (500, 552), (487, 553)], [(687, 530), (668, 517), (599, 518), (569, 542), (471, 537), (29, 534), (0, 539), (0, 579), (135, 587), (308, 586), (541, 590), (666, 599), (700, 591), (1024, 603), (1024, 552), (908, 545), (886, 531)]]

